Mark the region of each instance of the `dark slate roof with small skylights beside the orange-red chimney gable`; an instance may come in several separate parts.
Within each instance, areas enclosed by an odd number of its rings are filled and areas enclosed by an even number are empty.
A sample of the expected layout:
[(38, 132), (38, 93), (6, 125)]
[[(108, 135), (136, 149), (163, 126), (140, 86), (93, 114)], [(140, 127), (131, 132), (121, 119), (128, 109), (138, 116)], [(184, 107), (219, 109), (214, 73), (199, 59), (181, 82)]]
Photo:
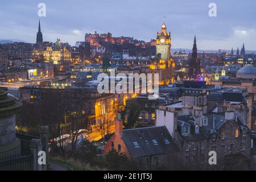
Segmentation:
[[(122, 139), (133, 158), (180, 151), (165, 126), (123, 130)], [(154, 139), (158, 144), (152, 142)], [(166, 143), (164, 139), (168, 139), (170, 143)], [(138, 147), (134, 142), (138, 143)]]

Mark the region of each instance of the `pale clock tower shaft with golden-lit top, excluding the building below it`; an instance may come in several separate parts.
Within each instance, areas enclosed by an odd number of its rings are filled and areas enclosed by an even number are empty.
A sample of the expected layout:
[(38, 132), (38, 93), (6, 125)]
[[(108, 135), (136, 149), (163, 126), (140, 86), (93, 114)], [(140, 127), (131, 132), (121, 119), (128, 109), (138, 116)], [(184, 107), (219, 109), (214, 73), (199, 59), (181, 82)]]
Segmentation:
[(166, 24), (162, 24), (161, 32), (156, 36), (156, 55), (161, 54), (161, 59), (168, 61), (171, 54), (171, 32), (167, 32)]

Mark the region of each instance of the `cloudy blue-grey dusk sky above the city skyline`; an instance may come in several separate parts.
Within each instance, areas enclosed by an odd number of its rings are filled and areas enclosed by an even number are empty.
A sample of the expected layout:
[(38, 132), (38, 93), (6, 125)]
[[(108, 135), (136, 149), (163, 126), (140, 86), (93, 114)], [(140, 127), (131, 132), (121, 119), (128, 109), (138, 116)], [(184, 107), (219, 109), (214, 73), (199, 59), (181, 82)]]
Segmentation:
[[(46, 3), (46, 17), (38, 16), (38, 4)], [(217, 17), (208, 15), (209, 3), (217, 5)], [(233, 0), (1, 0), (0, 39), (35, 43), (40, 18), (44, 41), (74, 45), (88, 32), (111, 32), (150, 41), (166, 16), (173, 48), (192, 48), (196, 34), (199, 49), (234, 50), (245, 43), (256, 50), (256, 1)]]

